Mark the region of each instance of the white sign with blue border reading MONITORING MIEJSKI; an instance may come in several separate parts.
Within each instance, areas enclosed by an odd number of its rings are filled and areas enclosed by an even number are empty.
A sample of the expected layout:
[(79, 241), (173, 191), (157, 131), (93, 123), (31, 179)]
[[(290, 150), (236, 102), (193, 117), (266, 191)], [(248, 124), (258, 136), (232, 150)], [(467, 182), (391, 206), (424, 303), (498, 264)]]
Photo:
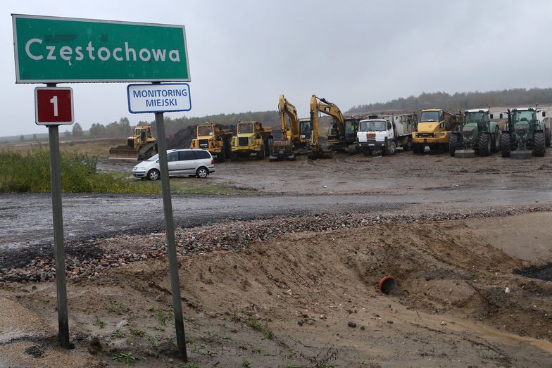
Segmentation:
[(129, 84), (127, 96), (133, 114), (192, 110), (187, 83)]

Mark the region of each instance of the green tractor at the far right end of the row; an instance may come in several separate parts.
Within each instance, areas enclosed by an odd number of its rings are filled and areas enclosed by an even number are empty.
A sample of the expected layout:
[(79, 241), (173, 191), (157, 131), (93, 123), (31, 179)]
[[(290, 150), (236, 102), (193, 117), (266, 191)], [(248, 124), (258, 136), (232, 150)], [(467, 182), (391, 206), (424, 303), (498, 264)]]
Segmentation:
[[(537, 108), (513, 108), (508, 110), (508, 122), (501, 136), (502, 157), (543, 157), (550, 147), (551, 132), (548, 122), (537, 119), (537, 113), (546, 113)], [(502, 119), (502, 113), (500, 118)]]

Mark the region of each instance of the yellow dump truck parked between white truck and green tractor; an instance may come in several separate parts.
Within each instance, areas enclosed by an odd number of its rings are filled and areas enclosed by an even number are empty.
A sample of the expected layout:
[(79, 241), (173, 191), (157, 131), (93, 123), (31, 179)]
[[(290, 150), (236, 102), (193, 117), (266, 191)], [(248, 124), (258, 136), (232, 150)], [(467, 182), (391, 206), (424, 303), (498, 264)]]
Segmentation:
[(458, 131), (462, 117), (439, 108), (422, 110), (418, 128), (412, 132), (412, 151), (424, 153), (425, 146), (432, 151), (449, 151), (451, 131)]

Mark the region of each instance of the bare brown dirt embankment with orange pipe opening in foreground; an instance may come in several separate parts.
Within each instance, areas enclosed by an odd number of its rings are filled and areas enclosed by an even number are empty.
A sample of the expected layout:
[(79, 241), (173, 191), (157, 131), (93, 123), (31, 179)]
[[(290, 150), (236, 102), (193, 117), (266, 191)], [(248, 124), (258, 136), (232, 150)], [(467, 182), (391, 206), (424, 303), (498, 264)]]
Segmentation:
[[(513, 269), (551, 259), (546, 239), (526, 242), (540, 236), (532, 227), (551, 219), (542, 212), (375, 221), (252, 241), (244, 236), (257, 234), (259, 225), (242, 222), (236, 239), (247, 246), (180, 258), (190, 361), (201, 367), (549, 367), (552, 285)], [(206, 230), (195, 229), (202, 243)], [(163, 238), (127, 236), (110, 244), (148, 241), (153, 246)], [(520, 252), (520, 243), (541, 253)], [(375, 288), (386, 274), (399, 279), (389, 296)], [(6, 338), (1, 321), (0, 363), (46, 367), (63, 355), (47, 339), (56, 326), (54, 291), (51, 282), (3, 284), (1, 297), (42, 327), (39, 334), (18, 329), (29, 318), (15, 317)], [(70, 356), (85, 357), (82, 367), (123, 366), (113, 360), (121, 353), (139, 357), (136, 367), (177, 366), (170, 303), (165, 258), (70, 282), (76, 345)]]

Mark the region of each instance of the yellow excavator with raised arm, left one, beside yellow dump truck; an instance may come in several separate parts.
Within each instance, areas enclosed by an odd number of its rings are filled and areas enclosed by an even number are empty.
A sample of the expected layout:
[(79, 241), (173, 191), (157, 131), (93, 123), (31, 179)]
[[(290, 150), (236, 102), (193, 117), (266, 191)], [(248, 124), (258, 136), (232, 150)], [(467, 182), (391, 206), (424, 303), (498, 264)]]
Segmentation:
[(297, 153), (306, 153), (306, 146), (311, 142), (311, 119), (299, 119), (297, 109), (283, 94), (278, 101), (278, 113), (282, 139), (273, 141), (269, 160), (294, 160)]

